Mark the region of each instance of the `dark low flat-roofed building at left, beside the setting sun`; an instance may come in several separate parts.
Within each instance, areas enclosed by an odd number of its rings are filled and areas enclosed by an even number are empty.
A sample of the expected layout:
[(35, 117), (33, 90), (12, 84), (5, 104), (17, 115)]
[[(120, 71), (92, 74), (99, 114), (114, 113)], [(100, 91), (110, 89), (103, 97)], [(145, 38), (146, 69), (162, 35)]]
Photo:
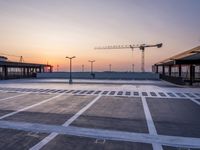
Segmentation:
[(37, 73), (52, 72), (53, 66), (46, 64), (23, 63), (8, 61), (0, 56), (0, 80), (33, 78)]

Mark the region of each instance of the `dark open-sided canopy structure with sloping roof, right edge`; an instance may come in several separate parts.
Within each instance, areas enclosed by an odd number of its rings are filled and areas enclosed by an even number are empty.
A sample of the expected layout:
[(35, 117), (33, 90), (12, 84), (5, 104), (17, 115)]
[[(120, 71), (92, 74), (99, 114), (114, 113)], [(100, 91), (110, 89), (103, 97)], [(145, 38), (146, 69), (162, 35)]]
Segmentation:
[(178, 84), (200, 82), (200, 46), (154, 64), (153, 71)]

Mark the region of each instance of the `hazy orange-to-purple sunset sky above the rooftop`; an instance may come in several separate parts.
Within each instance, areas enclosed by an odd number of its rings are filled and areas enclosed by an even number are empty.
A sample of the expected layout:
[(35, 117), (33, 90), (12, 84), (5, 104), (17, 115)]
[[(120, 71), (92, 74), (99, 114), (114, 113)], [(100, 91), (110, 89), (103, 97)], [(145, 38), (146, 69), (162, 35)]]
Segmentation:
[[(0, 0), (0, 55), (49, 63), (74, 71), (130, 71), (141, 51), (94, 50), (96, 46), (156, 44), (145, 51), (146, 70), (159, 60), (200, 45), (200, 0)], [(9, 57), (18, 61), (17, 57)]]

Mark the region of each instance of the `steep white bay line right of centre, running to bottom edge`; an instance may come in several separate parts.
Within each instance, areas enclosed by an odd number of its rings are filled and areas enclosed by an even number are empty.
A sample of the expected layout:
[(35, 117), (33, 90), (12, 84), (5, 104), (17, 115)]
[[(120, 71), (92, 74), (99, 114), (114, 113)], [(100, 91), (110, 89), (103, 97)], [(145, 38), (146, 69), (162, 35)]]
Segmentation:
[[(144, 108), (144, 113), (145, 113), (145, 117), (146, 117), (146, 121), (147, 121), (147, 127), (149, 130), (149, 134), (150, 135), (158, 135), (157, 131), (156, 131), (156, 127), (155, 127), (153, 119), (152, 119), (152, 116), (151, 116), (151, 113), (150, 113), (150, 110), (149, 110), (149, 107), (148, 107), (148, 104), (147, 104), (147, 101), (146, 101), (146, 98), (144, 96), (141, 96), (141, 99), (142, 99), (142, 105)], [(163, 148), (160, 144), (152, 143), (152, 145), (153, 145), (153, 150), (163, 150)]]

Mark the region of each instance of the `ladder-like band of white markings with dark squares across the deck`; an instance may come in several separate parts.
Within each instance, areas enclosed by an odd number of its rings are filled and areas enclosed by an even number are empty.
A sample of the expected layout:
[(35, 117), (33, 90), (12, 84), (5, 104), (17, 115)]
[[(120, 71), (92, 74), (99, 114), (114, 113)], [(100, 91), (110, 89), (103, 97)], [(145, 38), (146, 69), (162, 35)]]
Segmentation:
[[(148, 89), (148, 91), (144, 89), (138, 89), (136, 91), (114, 91), (114, 90), (64, 90), (64, 89), (34, 89), (34, 88), (1, 88), (3, 92), (18, 92), (18, 93), (68, 93), (72, 95), (107, 95), (107, 96), (129, 96), (129, 97), (138, 97), (138, 96), (145, 96), (145, 97), (154, 97), (154, 98), (198, 98), (200, 97), (199, 93), (192, 93), (192, 92), (184, 92), (179, 91), (177, 89), (174, 92), (170, 90), (160, 90), (160, 89)], [(129, 93), (130, 92), (130, 93)]]

